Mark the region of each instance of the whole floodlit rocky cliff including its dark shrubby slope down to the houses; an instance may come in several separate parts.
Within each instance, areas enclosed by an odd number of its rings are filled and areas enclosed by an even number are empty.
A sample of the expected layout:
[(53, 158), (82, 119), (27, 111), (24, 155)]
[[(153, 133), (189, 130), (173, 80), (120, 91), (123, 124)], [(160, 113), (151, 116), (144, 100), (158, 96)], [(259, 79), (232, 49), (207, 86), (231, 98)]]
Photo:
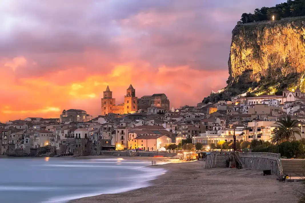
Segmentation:
[(305, 92), (305, 17), (235, 26), (228, 66), (228, 86), (204, 103), (242, 93), (281, 95), (284, 88)]

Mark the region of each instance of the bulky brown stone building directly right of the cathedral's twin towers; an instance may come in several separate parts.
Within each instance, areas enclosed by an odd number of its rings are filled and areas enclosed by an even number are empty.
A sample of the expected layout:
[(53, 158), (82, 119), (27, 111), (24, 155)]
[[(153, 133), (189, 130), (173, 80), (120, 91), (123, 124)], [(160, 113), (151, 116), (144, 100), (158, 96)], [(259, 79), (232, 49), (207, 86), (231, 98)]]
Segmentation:
[(162, 107), (165, 110), (170, 110), (170, 101), (164, 93), (142, 96), (138, 99), (138, 107)]

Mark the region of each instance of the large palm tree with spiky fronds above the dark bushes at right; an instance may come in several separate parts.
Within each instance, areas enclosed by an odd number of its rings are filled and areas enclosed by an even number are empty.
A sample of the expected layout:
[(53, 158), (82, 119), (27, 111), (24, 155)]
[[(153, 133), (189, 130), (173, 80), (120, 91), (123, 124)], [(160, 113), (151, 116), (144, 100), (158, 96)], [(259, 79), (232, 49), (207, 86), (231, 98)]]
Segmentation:
[(297, 120), (292, 120), (290, 115), (285, 118), (280, 118), (275, 122), (278, 126), (273, 130), (273, 135), (271, 136), (271, 142), (273, 144), (279, 145), (282, 142), (296, 140), (297, 135), (301, 135), (301, 129), (298, 126)]

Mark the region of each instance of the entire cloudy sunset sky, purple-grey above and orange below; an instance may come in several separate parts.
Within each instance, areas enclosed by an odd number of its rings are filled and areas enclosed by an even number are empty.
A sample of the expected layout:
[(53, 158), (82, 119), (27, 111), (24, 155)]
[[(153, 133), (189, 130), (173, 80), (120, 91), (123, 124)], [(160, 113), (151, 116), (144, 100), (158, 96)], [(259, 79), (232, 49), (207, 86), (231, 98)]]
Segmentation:
[(1, 0), (0, 122), (100, 114), (109, 85), (119, 104), (165, 93), (196, 105), (226, 86), (231, 31), (243, 12), (280, 0)]

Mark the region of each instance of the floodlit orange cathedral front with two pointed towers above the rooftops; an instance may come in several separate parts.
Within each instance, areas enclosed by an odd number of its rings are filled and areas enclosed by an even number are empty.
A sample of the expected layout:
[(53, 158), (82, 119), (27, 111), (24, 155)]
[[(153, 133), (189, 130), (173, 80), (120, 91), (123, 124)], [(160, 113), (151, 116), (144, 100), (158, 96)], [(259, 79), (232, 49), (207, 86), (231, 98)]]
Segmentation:
[(102, 98), (102, 115), (109, 113), (113, 114), (129, 114), (135, 113), (138, 110), (138, 97), (135, 96), (135, 89), (132, 85), (126, 91), (124, 96), (124, 103), (115, 105), (115, 99), (112, 98), (112, 92), (107, 86), (104, 92), (104, 98)]

